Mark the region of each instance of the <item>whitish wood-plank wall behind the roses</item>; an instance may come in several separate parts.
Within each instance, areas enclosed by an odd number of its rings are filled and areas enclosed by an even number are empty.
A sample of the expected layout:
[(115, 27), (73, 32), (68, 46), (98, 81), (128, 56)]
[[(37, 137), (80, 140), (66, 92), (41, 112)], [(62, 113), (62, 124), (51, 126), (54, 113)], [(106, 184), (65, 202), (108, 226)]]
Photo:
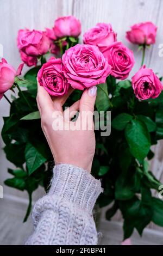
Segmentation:
[[(125, 32), (131, 25), (141, 21), (153, 21), (158, 26), (156, 44), (151, 47), (145, 58), (148, 67), (153, 68), (159, 75), (163, 75), (163, 57), (158, 55), (158, 45), (163, 43), (163, 1), (162, 0), (0, 0), (0, 44), (4, 47), (4, 57), (17, 68), (21, 62), (16, 46), (17, 31), (20, 28), (44, 29), (52, 28), (54, 20), (63, 15), (74, 15), (82, 22), (82, 34), (97, 22), (109, 22), (121, 40), (135, 53), (136, 64), (131, 75), (139, 69), (141, 53), (137, 47), (129, 44)], [(80, 37), (82, 41), (82, 36)], [(10, 96), (10, 93), (7, 93)], [(0, 103), (0, 130), (2, 129), (2, 116), (9, 114), (9, 105), (5, 99)], [(3, 147), (2, 139), (0, 148)], [(163, 181), (161, 143), (155, 148), (156, 157), (152, 162), (153, 172)], [(162, 163), (161, 163), (162, 162)], [(0, 151), (0, 185), (9, 175), (7, 167), (11, 164), (5, 160), (3, 151)], [(35, 198), (40, 194), (36, 193)], [(4, 198), (18, 196), (26, 198), (26, 193), (18, 192), (4, 186)], [(2, 199), (0, 199), (2, 200)]]

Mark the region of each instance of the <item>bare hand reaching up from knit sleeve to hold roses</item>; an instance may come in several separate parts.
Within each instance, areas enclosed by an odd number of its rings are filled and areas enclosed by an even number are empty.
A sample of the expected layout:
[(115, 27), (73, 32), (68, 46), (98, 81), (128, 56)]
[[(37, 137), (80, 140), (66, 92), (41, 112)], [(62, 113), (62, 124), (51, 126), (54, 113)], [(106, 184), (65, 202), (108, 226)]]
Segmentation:
[[(72, 90), (70, 88), (64, 96), (51, 97), (38, 83), (37, 106), (41, 115), (41, 127), (56, 164), (73, 164), (90, 172), (95, 154), (92, 114), (97, 88), (94, 86), (86, 89), (79, 101), (63, 111), (62, 106)], [(71, 121), (77, 111), (77, 120)], [(63, 127), (67, 128), (62, 129)], [(78, 127), (78, 130), (75, 127)]]

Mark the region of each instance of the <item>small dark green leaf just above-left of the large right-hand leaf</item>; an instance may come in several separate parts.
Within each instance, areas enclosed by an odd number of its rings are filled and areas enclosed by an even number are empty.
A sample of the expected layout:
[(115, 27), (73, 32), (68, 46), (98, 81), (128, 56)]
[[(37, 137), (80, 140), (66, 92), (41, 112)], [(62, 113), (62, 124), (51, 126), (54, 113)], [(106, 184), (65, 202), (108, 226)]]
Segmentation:
[(133, 119), (132, 115), (127, 113), (118, 114), (111, 122), (111, 126), (119, 131), (122, 131), (129, 121)]

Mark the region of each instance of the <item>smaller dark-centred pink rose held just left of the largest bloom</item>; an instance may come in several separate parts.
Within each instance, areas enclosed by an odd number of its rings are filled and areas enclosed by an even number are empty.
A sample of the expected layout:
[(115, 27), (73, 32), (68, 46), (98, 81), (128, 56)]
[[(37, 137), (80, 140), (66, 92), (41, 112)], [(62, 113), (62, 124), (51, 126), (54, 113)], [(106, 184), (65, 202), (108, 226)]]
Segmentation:
[(40, 86), (43, 86), (50, 95), (62, 96), (70, 87), (61, 68), (61, 58), (51, 57), (38, 72), (37, 78)]

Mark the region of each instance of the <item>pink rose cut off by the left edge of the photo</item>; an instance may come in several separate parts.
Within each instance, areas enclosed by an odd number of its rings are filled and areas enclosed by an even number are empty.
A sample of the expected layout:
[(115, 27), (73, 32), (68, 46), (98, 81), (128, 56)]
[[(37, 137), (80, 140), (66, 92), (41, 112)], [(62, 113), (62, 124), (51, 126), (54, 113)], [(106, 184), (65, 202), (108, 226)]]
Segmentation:
[(23, 64), (20, 64), (16, 71), (4, 58), (2, 58), (2, 62), (0, 62), (0, 100), (3, 97), (3, 94), (12, 87), (15, 76), (21, 75), (22, 69)]

